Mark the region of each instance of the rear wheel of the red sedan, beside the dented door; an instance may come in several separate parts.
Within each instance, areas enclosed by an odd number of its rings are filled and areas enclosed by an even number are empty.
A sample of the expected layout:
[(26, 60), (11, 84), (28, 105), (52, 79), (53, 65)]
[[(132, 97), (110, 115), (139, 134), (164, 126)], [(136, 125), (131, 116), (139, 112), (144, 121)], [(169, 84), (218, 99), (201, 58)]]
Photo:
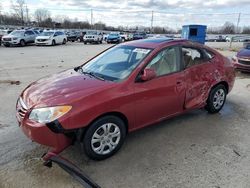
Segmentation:
[(227, 90), (224, 85), (215, 86), (210, 91), (205, 109), (211, 114), (218, 113), (225, 104), (226, 96)]

